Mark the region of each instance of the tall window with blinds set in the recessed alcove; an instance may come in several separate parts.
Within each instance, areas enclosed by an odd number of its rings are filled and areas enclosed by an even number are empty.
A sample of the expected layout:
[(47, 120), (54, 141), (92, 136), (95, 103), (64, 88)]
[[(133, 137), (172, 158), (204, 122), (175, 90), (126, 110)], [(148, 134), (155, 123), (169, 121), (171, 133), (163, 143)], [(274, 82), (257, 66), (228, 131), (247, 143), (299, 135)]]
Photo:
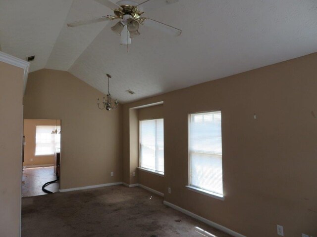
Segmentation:
[(164, 173), (163, 119), (140, 121), (140, 167)]

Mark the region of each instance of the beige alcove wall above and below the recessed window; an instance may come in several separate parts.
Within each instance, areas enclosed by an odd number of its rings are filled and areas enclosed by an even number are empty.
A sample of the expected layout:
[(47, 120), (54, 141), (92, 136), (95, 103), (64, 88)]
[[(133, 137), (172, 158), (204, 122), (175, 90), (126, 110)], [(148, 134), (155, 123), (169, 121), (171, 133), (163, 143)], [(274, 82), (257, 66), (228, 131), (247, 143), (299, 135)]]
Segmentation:
[[(146, 108), (138, 109), (139, 121), (145, 120), (145, 119), (158, 119), (158, 118), (164, 118), (163, 105), (155, 105), (155, 106), (149, 106)], [(164, 193), (164, 177), (139, 169), (138, 178), (139, 178), (139, 184), (145, 185), (151, 189)]]

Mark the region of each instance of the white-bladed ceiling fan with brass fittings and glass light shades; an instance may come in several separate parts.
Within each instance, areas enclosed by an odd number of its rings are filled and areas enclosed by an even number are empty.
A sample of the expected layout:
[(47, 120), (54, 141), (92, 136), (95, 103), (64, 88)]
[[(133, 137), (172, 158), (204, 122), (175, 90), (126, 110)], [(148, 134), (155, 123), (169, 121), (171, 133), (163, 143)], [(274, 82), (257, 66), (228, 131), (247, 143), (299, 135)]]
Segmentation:
[(146, 0), (142, 3), (137, 3), (131, 0), (120, 0), (117, 3), (113, 3), (110, 0), (95, 1), (111, 8), (114, 15), (96, 17), (85, 21), (76, 21), (67, 24), (67, 26), (76, 27), (101, 21), (112, 21), (119, 19), (119, 22), (112, 26), (111, 30), (120, 36), (120, 43), (124, 45), (131, 44), (131, 39), (140, 35), (140, 32), (138, 31), (140, 24), (156, 28), (173, 36), (179, 36), (182, 33), (181, 30), (175, 27), (142, 16), (145, 13), (144, 11), (157, 9), (161, 6), (175, 3), (178, 0)]

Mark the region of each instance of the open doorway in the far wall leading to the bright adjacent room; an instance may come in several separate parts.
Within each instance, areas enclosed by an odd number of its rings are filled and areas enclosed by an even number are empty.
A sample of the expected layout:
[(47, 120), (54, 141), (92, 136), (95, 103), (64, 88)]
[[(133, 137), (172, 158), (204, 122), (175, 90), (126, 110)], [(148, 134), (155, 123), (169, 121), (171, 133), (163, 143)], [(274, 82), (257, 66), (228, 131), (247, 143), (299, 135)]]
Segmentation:
[(24, 119), (23, 140), (22, 197), (59, 192), (61, 120)]

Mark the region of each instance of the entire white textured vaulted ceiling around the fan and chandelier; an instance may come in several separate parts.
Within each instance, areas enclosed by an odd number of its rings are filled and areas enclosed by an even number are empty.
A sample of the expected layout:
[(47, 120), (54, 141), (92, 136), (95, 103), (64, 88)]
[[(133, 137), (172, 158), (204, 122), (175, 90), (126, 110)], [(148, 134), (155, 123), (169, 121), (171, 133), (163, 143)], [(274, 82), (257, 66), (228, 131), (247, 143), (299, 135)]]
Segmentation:
[(107, 14), (94, 0), (0, 0), (0, 44), (22, 59), (35, 54), (31, 71), (69, 71), (103, 92), (109, 73), (123, 103), (317, 51), (316, 0), (179, 0), (145, 15), (182, 35), (141, 26), (128, 53), (114, 21), (66, 27)]

